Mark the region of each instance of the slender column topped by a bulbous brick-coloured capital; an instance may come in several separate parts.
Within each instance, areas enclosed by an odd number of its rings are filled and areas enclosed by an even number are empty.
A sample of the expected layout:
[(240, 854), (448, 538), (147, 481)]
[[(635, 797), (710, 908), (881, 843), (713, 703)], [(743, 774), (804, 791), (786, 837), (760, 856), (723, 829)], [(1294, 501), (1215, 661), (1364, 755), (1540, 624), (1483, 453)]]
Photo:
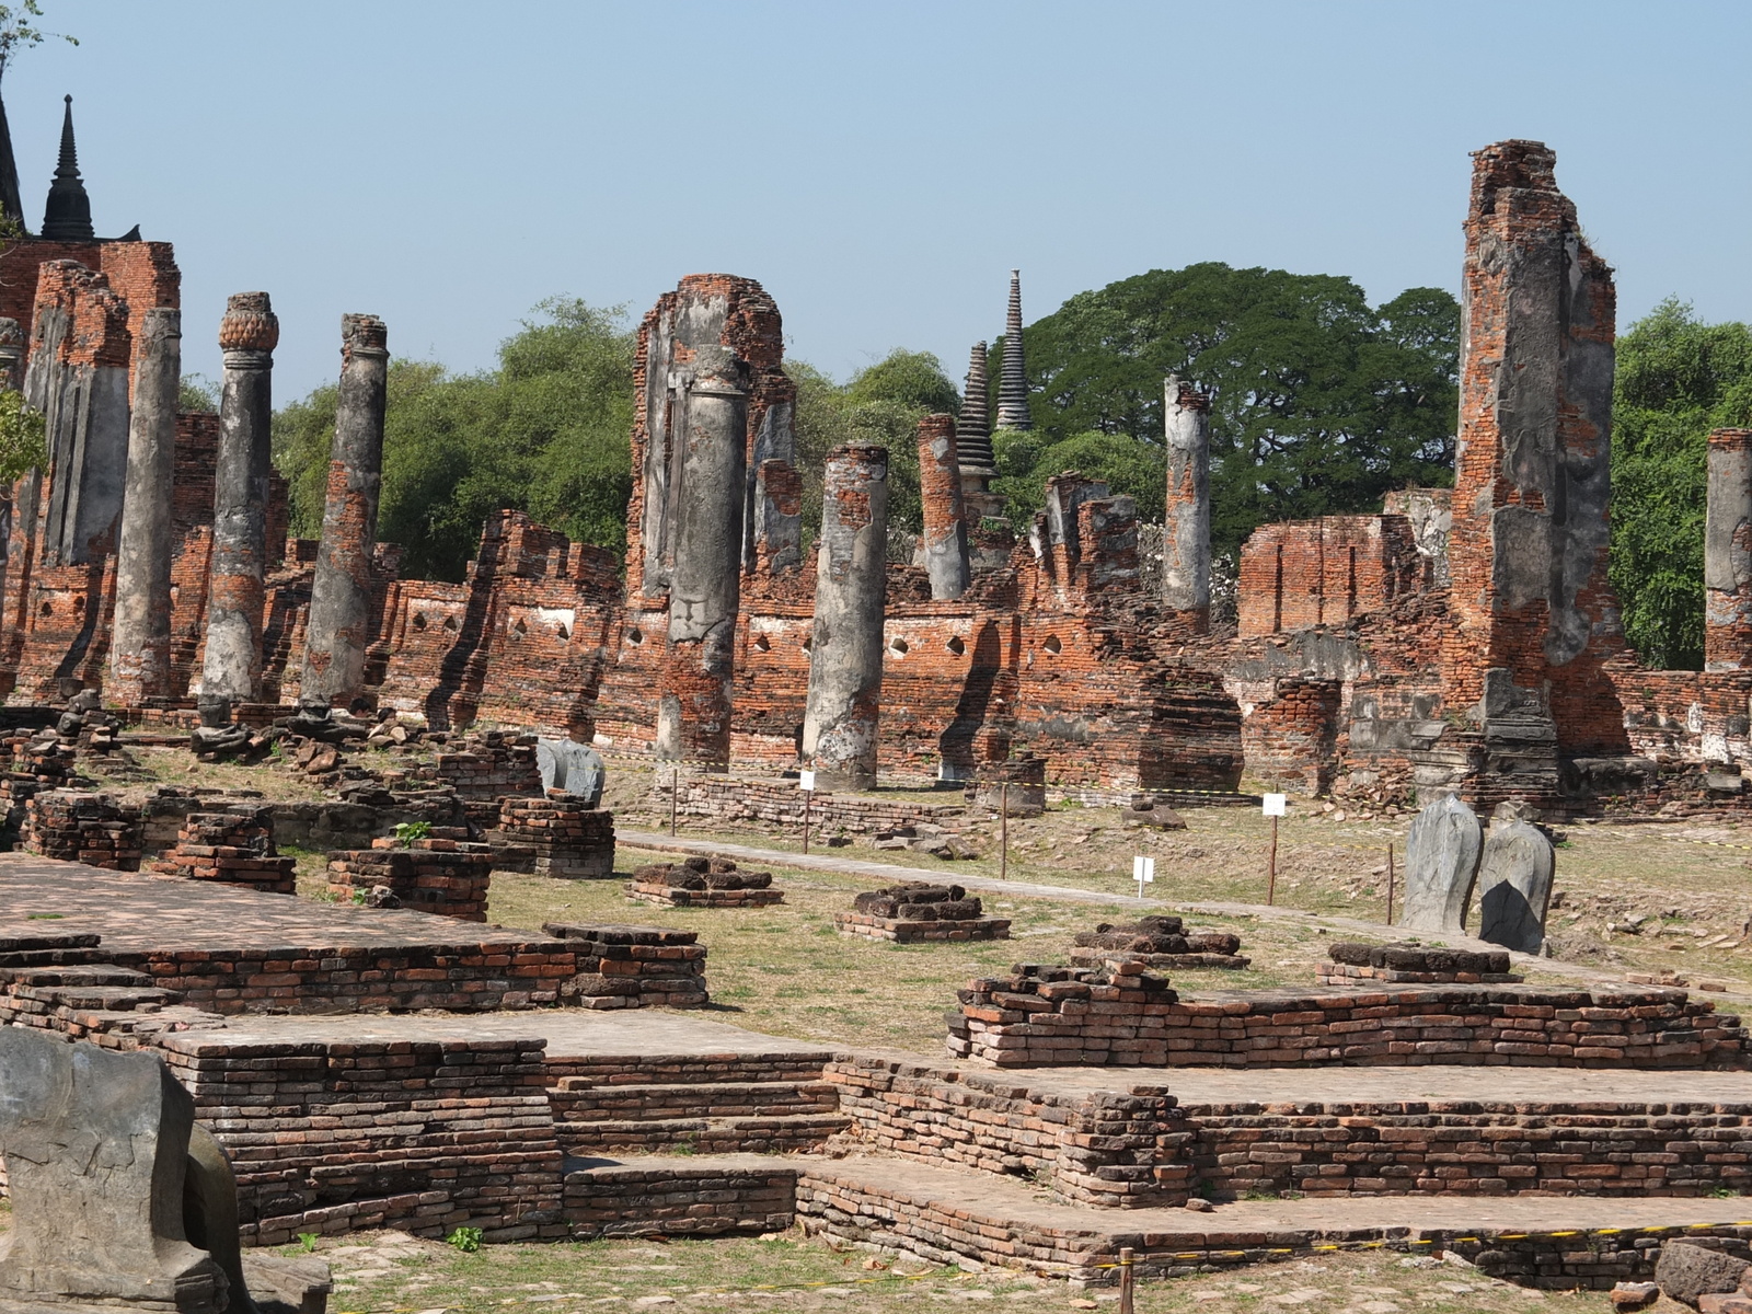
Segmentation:
[(263, 569), (268, 555), (273, 349), (280, 321), (266, 293), (237, 293), (219, 321), (224, 387), (214, 459), (214, 554), (201, 664), (203, 722), (261, 696)]

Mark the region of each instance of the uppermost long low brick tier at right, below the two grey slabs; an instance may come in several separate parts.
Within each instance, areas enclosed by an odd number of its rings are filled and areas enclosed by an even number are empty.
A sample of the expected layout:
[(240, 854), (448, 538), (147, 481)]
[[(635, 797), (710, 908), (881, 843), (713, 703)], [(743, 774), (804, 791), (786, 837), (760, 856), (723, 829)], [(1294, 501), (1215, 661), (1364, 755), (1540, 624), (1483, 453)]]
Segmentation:
[(1176, 999), (1165, 981), (1134, 986), (1118, 974), (1099, 981), (1077, 969), (1023, 967), (974, 981), (960, 1004), (948, 1014), (950, 1053), (999, 1067), (1747, 1063), (1740, 1018), (1661, 988), (1452, 985)]

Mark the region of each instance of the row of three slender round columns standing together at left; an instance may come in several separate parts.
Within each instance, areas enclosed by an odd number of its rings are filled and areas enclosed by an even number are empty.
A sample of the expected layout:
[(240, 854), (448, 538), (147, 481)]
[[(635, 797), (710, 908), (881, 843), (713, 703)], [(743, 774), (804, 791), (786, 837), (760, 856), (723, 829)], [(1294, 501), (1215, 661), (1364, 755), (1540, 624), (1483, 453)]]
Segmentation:
[[(389, 349), (375, 315), (342, 321), (342, 378), (322, 545), (310, 592), (301, 699), (347, 708), (364, 690), (371, 547), (377, 540)], [(261, 631), (273, 473), (273, 349), (280, 322), (266, 293), (238, 293), (219, 322), (224, 382), (214, 463), (214, 531), (200, 708), (207, 725), (261, 697)], [(180, 312), (142, 315), (121, 533), (110, 694), (124, 704), (170, 692), (172, 506)]]

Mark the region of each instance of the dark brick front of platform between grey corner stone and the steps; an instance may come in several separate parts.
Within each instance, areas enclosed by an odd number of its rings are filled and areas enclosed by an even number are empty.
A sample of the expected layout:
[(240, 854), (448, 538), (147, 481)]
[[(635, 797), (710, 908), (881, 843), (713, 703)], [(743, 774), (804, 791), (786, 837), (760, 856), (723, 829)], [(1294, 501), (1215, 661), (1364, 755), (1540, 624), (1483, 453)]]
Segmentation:
[(373, 1226), (568, 1235), (540, 1039), (158, 1044), (231, 1158), (245, 1246)]

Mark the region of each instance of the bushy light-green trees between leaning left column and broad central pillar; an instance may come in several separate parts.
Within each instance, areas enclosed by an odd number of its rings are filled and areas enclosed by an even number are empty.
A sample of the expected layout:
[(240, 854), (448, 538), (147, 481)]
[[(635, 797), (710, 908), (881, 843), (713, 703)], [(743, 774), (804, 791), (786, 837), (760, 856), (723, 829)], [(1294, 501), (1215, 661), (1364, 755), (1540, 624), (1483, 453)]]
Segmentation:
[[(501, 508), (625, 548), (634, 338), (620, 312), (583, 301), (545, 301), (536, 315), (501, 345), (496, 370), (389, 364), (378, 538), (401, 543), (410, 578), (463, 578)], [(335, 403), (329, 384), (273, 417), (298, 534), (322, 529)]]

